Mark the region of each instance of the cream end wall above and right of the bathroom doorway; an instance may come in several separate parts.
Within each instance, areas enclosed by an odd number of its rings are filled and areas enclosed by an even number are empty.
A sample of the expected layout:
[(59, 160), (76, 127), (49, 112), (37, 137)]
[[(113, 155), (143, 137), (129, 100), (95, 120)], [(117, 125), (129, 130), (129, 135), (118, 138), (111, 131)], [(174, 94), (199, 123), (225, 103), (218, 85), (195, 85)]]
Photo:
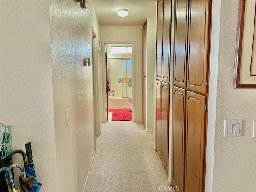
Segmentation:
[(135, 42), (135, 121), (142, 121), (142, 26), (101, 26), (102, 42)]

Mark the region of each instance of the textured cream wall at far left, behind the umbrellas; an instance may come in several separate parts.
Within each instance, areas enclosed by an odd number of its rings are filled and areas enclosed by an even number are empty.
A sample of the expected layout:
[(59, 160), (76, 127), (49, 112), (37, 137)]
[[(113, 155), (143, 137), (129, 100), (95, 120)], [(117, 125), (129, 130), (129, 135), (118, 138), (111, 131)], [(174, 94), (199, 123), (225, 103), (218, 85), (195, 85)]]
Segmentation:
[(50, 51), (48, 1), (1, 1), (0, 121), (12, 126), (13, 150), (31, 142), (42, 192), (57, 191)]

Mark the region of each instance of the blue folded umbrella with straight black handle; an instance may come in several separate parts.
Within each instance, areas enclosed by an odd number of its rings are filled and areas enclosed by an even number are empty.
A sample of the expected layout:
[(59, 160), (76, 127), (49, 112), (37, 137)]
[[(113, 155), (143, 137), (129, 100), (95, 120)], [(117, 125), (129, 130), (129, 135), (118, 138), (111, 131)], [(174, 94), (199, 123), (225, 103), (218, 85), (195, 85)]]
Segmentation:
[(33, 163), (33, 156), (32, 156), (32, 150), (31, 150), (31, 142), (28, 142), (25, 144), (26, 147), (26, 154), (27, 154), (27, 158), (28, 158), (28, 164), (26, 166), (26, 176), (28, 178), (30, 177), (34, 177), (34, 183), (32, 187), (28, 187), (28, 189), (30, 190), (30, 192), (39, 192), (42, 183), (38, 182), (36, 180), (36, 172), (35, 172), (35, 166)]

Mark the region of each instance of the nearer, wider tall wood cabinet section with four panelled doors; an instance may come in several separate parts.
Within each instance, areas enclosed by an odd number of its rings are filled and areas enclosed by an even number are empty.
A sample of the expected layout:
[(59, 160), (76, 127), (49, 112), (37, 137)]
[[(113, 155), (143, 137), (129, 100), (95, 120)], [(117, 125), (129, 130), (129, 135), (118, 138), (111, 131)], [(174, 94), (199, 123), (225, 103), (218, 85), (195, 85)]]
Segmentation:
[(204, 191), (211, 1), (175, 7), (172, 182), (181, 192)]

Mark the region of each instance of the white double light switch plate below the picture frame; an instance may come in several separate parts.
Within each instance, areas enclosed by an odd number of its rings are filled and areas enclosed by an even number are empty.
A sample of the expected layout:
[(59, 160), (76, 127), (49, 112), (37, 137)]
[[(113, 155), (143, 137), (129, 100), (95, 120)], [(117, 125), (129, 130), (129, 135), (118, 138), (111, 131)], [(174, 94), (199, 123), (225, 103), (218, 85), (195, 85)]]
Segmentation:
[(242, 120), (225, 120), (224, 137), (240, 137), (242, 133)]

